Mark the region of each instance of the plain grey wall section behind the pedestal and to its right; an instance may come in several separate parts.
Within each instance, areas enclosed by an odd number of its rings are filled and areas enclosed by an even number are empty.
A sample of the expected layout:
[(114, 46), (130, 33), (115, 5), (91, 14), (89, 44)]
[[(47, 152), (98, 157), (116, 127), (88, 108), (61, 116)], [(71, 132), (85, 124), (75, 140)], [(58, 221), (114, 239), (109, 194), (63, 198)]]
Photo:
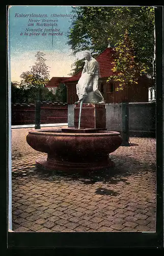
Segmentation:
[[(82, 113), (83, 114), (83, 113)], [(122, 130), (121, 103), (106, 104), (106, 128), (111, 131)], [(74, 122), (73, 105), (68, 106), (68, 126)], [(129, 136), (155, 137), (155, 102), (129, 103)]]

